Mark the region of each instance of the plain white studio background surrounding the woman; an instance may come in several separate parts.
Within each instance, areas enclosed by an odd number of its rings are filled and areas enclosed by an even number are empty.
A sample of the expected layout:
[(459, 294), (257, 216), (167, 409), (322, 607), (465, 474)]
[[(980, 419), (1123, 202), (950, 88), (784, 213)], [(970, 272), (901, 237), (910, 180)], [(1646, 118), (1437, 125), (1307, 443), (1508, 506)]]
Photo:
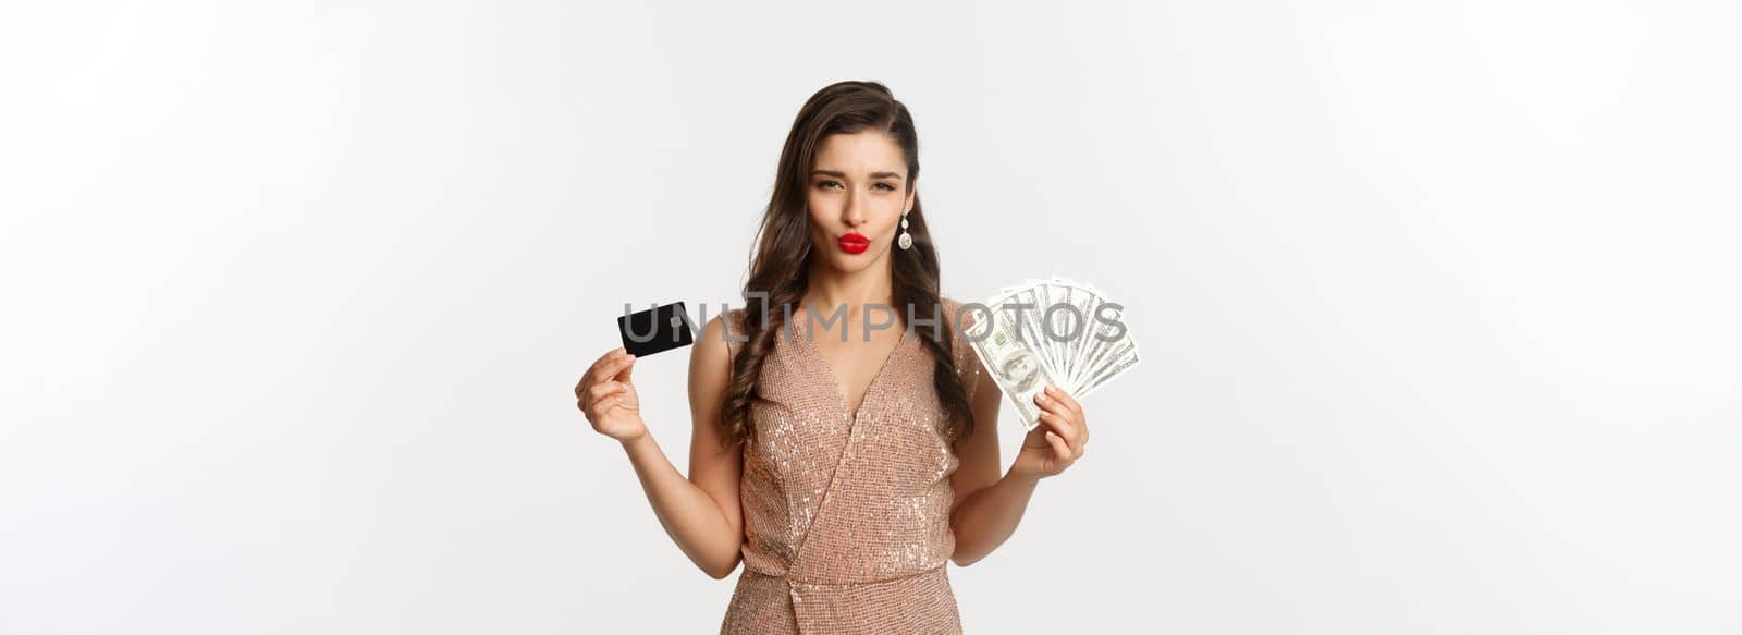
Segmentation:
[(718, 630), (570, 391), (622, 302), (735, 300), (873, 79), (944, 293), (1090, 281), (1144, 352), (951, 567), (970, 632), (1735, 633), (1737, 23), (7, 2), (0, 632)]

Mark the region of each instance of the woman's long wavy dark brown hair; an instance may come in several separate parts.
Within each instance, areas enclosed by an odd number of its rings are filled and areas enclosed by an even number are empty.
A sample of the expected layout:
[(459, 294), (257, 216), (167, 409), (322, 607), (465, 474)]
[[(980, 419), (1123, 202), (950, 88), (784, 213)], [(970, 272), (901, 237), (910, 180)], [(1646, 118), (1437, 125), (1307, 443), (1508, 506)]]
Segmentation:
[[(908, 159), (908, 194), (920, 176), (920, 138), (913, 127), (908, 106), (878, 82), (836, 82), (817, 91), (798, 110), (793, 131), (786, 136), (780, 150), (780, 166), (775, 173), (773, 194), (763, 209), (761, 225), (756, 230), (756, 249), (751, 253), (749, 277), (744, 281), (744, 333), (749, 340), (739, 347), (732, 358), (732, 382), (726, 387), (726, 401), (721, 419), (726, 427), (726, 443), (751, 440), (756, 431), (751, 422), (751, 405), (761, 399), (756, 379), (761, 377), (763, 363), (773, 351), (775, 338), (786, 323), (786, 316), (800, 316), (800, 302), (808, 288), (810, 272), (810, 213), (805, 199), (808, 173), (814, 167), (817, 147), (831, 134), (855, 134), (864, 131), (881, 131), (888, 134)], [(932, 234), (925, 229), (925, 213), (920, 209), (920, 197), (915, 194), (913, 208), (908, 211), (908, 234), (913, 236), (911, 249), (890, 249), (894, 258), (894, 309), (897, 314), (932, 318), (935, 323), (920, 323), (915, 328), (920, 340), (932, 352), (932, 384), (937, 398), (944, 405), (948, 424), (942, 433), (951, 443), (960, 443), (974, 431), (974, 412), (969, 406), (967, 391), (956, 379), (953, 338), (948, 335), (955, 328), (948, 311), (942, 311), (937, 277), (937, 248)], [(763, 323), (766, 316), (766, 323)]]

